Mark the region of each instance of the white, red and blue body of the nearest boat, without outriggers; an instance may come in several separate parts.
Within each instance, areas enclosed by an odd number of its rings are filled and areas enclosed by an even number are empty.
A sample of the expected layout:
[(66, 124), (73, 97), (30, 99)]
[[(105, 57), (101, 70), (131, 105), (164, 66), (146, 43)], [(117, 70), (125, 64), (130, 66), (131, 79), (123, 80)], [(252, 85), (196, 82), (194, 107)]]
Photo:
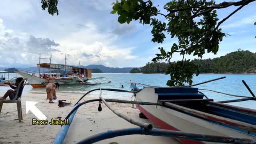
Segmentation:
[[(198, 88), (146, 87), (136, 93), (135, 100), (160, 106), (136, 105), (150, 121), (161, 129), (215, 136), (256, 138), (256, 110), (203, 99)], [(256, 100), (255, 97), (248, 100)], [(179, 139), (184, 144), (203, 142)], [(207, 143), (207, 142), (204, 142)]]

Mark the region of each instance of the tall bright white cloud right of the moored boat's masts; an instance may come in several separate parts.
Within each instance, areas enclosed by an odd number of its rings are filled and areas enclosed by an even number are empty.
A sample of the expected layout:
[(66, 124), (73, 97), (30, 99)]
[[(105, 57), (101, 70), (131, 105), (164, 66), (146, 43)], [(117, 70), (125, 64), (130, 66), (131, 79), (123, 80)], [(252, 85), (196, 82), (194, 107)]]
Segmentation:
[[(122, 47), (118, 44), (119, 38), (114, 33), (101, 32), (98, 26), (88, 22), (80, 31), (59, 40), (60, 50), (71, 55), (73, 62), (79, 61), (82, 65), (104, 64), (115, 65), (116, 61), (125, 62), (137, 56), (132, 55), (134, 47)], [(58, 55), (59, 58), (62, 57)]]

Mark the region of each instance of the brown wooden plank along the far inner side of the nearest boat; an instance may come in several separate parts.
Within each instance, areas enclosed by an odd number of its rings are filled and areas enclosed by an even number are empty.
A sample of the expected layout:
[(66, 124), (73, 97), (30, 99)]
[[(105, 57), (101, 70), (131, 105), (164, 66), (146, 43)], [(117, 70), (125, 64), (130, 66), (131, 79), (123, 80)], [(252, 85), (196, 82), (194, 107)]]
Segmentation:
[(229, 105), (229, 104), (222, 104), (222, 103), (219, 103), (219, 102), (209, 102), (209, 104), (212, 104), (214, 106), (220, 106), (220, 107), (223, 107), (223, 108), (228, 108), (228, 109), (231, 109), (231, 110), (236, 110), (238, 112), (246, 112), (248, 114), (256, 115), (256, 110), (253, 110), (253, 109), (250, 109), (250, 108), (243, 108), (243, 107), (240, 107), (240, 106), (232, 106), (232, 105)]

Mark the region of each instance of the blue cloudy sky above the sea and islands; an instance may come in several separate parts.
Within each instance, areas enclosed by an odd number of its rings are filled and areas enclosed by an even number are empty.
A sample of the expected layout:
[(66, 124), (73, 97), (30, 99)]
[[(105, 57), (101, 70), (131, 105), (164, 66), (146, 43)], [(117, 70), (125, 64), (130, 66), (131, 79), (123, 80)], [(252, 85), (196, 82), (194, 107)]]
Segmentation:
[[(141, 67), (151, 62), (158, 47), (170, 50), (176, 38), (162, 44), (151, 41), (152, 27), (139, 22), (119, 24), (118, 15), (110, 14), (115, 0), (60, 0), (59, 15), (48, 14), (41, 8), (41, 0), (4, 0), (0, 4), (0, 67), (36, 66), (41, 57), (49, 57), (52, 63), (87, 66), (102, 64), (109, 67)], [(170, 0), (169, 0), (170, 1)], [(224, 0), (216, 0), (216, 3)], [(168, 0), (152, 0), (162, 13)], [(231, 36), (220, 42), (219, 51), (205, 54), (203, 58), (215, 58), (238, 50), (256, 52), (256, 2), (244, 6), (220, 28)], [(236, 9), (231, 6), (218, 10), (221, 20)], [(163, 16), (157, 16), (166, 21)], [(198, 57), (185, 56), (186, 59)], [(181, 60), (179, 54), (172, 61)], [(41, 60), (41, 62), (50, 62)]]

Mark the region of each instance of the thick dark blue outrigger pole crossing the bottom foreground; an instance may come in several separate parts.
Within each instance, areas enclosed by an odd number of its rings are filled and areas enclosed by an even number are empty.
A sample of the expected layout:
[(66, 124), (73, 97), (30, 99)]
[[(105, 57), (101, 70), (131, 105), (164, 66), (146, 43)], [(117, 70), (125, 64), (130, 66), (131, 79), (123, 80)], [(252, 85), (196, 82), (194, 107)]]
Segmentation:
[(141, 128), (126, 128), (121, 130), (108, 130), (107, 132), (102, 132), (100, 134), (95, 134), (83, 140), (80, 140), (76, 144), (93, 144), (94, 142), (99, 142), (108, 138), (114, 138), (117, 136), (127, 136), (133, 134), (144, 134), (150, 136), (166, 136), (171, 138), (186, 138), (191, 140), (198, 140), (204, 142), (218, 142), (218, 143), (232, 143), (232, 144), (256, 144), (256, 139), (252, 138), (234, 138), (227, 136), (212, 136), (206, 134), (195, 134), (189, 132), (179, 132), (175, 130), (162, 130), (158, 128), (153, 128), (152, 130), (145, 131)]

